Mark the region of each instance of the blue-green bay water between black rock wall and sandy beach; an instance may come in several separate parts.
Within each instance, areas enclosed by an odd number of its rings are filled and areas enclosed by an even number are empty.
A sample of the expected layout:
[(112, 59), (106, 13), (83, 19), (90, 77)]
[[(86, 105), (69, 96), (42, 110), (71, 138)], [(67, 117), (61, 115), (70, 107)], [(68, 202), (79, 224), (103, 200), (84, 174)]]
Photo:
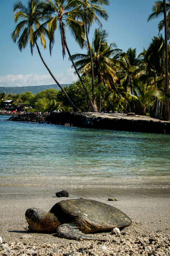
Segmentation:
[(170, 185), (170, 134), (10, 122), (0, 116), (3, 180)]

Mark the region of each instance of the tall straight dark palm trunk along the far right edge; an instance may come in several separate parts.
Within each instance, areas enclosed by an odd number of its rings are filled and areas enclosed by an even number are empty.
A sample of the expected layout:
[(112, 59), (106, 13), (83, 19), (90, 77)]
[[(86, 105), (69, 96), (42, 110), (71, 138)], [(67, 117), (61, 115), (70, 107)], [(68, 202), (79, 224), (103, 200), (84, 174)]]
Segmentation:
[[(166, 20), (166, 0), (163, 0), (164, 5), (164, 28), (165, 28), (165, 92), (168, 93), (168, 40), (167, 40), (167, 20)], [(165, 101), (164, 120), (170, 121), (169, 102)]]

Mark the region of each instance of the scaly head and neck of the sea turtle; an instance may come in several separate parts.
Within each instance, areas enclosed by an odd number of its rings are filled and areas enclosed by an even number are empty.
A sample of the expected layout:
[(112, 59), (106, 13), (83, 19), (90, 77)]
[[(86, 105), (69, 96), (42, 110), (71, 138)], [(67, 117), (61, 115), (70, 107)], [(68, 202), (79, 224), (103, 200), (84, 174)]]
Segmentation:
[(39, 208), (29, 208), (25, 213), (28, 228), (36, 232), (55, 232), (60, 222), (51, 212), (45, 212)]

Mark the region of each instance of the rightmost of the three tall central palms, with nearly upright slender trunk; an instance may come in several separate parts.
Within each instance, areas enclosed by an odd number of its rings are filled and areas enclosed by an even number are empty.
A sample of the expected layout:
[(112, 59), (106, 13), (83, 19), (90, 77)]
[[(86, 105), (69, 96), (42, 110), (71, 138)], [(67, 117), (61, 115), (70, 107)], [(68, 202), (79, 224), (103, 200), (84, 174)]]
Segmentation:
[(87, 45), (88, 45), (88, 50), (90, 55), (91, 75), (92, 75), (92, 102), (94, 105), (95, 105), (95, 93), (94, 93), (93, 59), (92, 59), (91, 45), (89, 42), (88, 33), (94, 21), (98, 21), (98, 23), (100, 24), (100, 27), (102, 27), (102, 24), (98, 16), (100, 16), (104, 20), (108, 20), (108, 13), (100, 6), (101, 4), (109, 5), (110, 1), (109, 0), (82, 0), (79, 3), (81, 11), (84, 14), (84, 15), (81, 15), (81, 19), (84, 21), (84, 24), (85, 24), (85, 35), (86, 35)]

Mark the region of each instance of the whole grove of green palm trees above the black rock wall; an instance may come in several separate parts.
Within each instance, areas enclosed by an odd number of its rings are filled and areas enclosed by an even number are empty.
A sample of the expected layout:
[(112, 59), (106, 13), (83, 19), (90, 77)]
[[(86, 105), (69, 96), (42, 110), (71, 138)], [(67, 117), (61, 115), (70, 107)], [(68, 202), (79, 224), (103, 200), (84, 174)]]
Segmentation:
[[(108, 42), (108, 32), (102, 28), (101, 20), (108, 20), (104, 6), (109, 4), (109, 0), (27, 0), (26, 4), (16, 1), (13, 11), (17, 25), (11, 38), (20, 51), (30, 44), (33, 54), (36, 46), (43, 64), (61, 89), (51, 102), (54, 108), (58, 104), (62, 106), (60, 111), (133, 112), (170, 121), (170, 0), (154, 2), (148, 22), (163, 18), (158, 24), (159, 34), (151, 38), (148, 48), (138, 56), (136, 49), (129, 48), (127, 52), (119, 49), (116, 36), (113, 42)], [(95, 28), (90, 42), (92, 25)], [(161, 34), (163, 28), (165, 38)], [(56, 30), (61, 35), (63, 59), (67, 51), (78, 76), (78, 81), (64, 88), (50, 71), (38, 45), (41, 42), (46, 49), (49, 44), (52, 55)], [(67, 30), (80, 53), (70, 52)]]

